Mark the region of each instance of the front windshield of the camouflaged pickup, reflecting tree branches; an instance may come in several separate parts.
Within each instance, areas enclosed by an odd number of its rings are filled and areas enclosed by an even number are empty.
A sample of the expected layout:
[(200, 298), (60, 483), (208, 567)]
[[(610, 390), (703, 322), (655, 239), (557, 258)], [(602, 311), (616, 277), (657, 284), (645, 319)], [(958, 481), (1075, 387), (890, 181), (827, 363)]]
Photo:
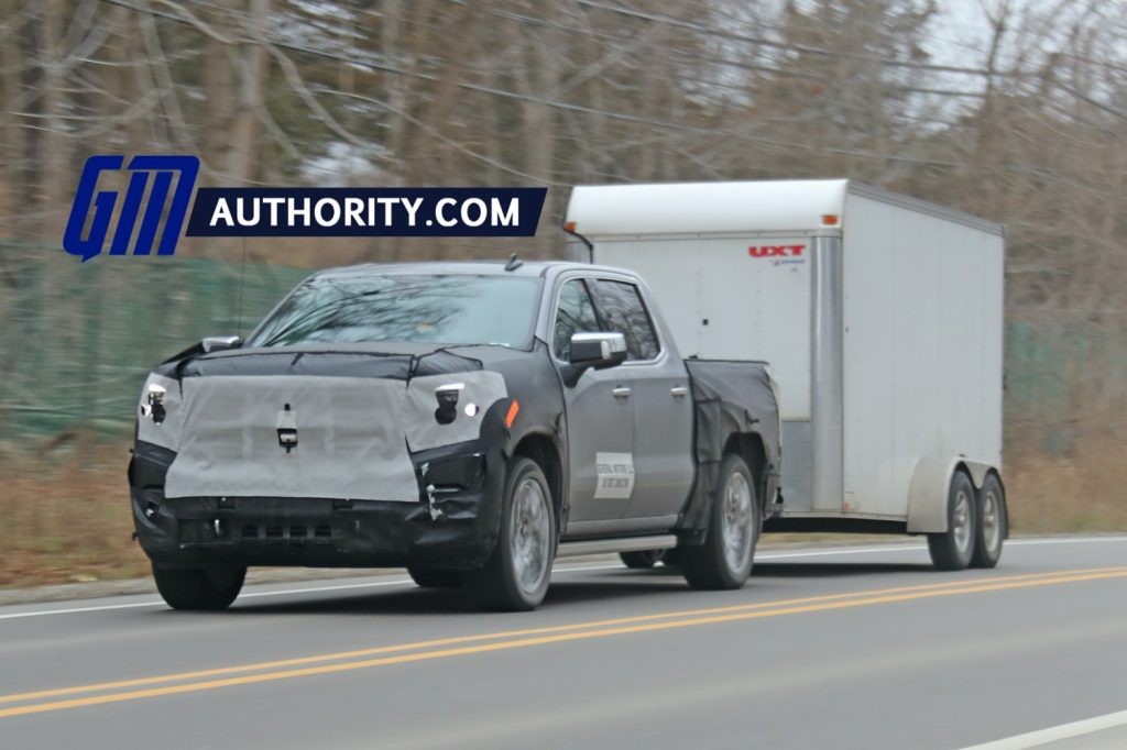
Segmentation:
[(314, 278), (259, 325), (248, 347), (401, 341), (527, 348), (540, 279), (513, 276)]

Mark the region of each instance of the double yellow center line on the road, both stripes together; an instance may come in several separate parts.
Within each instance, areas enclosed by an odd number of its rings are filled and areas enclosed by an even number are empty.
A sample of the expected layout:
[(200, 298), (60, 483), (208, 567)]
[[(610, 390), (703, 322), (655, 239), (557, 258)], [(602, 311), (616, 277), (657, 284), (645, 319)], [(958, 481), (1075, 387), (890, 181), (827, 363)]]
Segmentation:
[[(416, 661), (431, 661), (450, 657), (462, 657), (490, 651), (526, 649), (530, 646), (602, 639), (631, 633), (648, 633), (678, 627), (713, 625), (739, 620), (780, 617), (802, 613), (849, 609), (915, 599), (931, 599), (967, 593), (983, 593), (1006, 589), (1023, 589), (1040, 586), (1058, 586), (1080, 581), (1127, 578), (1127, 568), (1088, 568), (1055, 573), (1032, 573), (1027, 575), (990, 575), (974, 580), (929, 583), (924, 586), (853, 591), (801, 599), (783, 599), (761, 604), (686, 609), (656, 615), (620, 617), (615, 619), (589, 620), (570, 625), (552, 625), (477, 635), (462, 635), (414, 643), (341, 651), (299, 659), (265, 661), (236, 667), (221, 667), (192, 672), (177, 672), (63, 687), (32, 693), (0, 696), (0, 718), (39, 714), (50, 711), (80, 708), (108, 703), (139, 700), (159, 696), (197, 693), (238, 685), (274, 682), (298, 677), (331, 675), (355, 669), (387, 667)], [(17, 705), (11, 705), (17, 704)]]

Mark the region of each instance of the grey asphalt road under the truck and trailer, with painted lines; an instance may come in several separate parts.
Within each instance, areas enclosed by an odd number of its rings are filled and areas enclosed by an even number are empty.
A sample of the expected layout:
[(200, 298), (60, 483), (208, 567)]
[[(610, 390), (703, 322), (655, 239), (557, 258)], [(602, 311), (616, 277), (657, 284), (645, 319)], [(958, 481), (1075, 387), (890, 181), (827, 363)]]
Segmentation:
[(761, 551), (735, 592), (561, 563), (520, 615), (385, 575), (221, 614), (0, 608), (5, 750), (1076, 750), (1127, 747), (1125, 709), (1127, 537), (1013, 541), (964, 573), (917, 543)]

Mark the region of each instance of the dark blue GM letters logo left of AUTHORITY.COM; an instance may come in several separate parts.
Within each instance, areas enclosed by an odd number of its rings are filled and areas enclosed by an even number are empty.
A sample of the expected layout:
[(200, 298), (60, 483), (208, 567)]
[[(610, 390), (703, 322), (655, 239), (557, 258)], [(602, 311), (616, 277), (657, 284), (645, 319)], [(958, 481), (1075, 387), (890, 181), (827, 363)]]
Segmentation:
[[(114, 209), (117, 207), (116, 190), (97, 191), (98, 177), (103, 172), (121, 170), (124, 161), (124, 157), (98, 155), (87, 159), (86, 166), (82, 167), (82, 177), (74, 194), (74, 205), (71, 207), (70, 220), (63, 234), (63, 249), (72, 256), (82, 258), (82, 262), (101, 253), (109, 234)], [(109, 244), (109, 255), (128, 255), (130, 241), (135, 232), (133, 255), (148, 256), (157, 239), (157, 230), (160, 226), (161, 215), (165, 214), (166, 204), (168, 213), (157, 255), (172, 255), (176, 252), (176, 242), (180, 239), (180, 230), (184, 227), (188, 204), (192, 202), (192, 189), (199, 173), (199, 159), (186, 155), (137, 155), (130, 160), (130, 166), (125, 169), (132, 175), (117, 215), (117, 227)], [(177, 175), (179, 177), (176, 180), (176, 190), (171, 193), (169, 200), (172, 178)], [(148, 203), (142, 213), (141, 204), (147, 190)], [(83, 239), (82, 231), (91, 211), (94, 216), (90, 218), (90, 231)], [(139, 215), (140, 230), (137, 230)]]

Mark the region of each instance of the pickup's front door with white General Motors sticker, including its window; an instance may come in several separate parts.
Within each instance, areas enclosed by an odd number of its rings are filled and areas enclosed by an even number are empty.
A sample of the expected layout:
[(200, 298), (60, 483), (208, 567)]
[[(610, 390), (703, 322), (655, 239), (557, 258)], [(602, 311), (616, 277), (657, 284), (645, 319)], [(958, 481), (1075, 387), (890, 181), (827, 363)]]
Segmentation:
[[(556, 302), (552, 357), (562, 366), (571, 334), (605, 331), (592, 303), (588, 282), (566, 278)], [(622, 518), (633, 492), (635, 401), (623, 366), (588, 369), (575, 387), (564, 389), (570, 464), (569, 521)]]

